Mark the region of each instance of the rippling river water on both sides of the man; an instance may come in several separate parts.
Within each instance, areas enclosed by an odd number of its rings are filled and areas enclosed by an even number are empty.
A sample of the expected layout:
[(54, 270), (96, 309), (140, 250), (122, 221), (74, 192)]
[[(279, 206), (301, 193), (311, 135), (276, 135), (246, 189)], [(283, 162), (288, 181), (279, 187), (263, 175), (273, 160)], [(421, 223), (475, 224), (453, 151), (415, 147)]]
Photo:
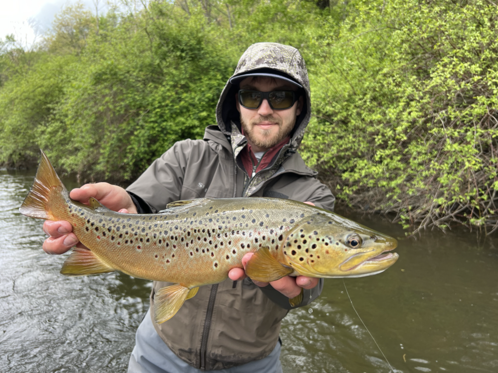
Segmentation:
[[(151, 284), (60, 275), (67, 255), (45, 254), (43, 221), (17, 210), (33, 177), (0, 171), (0, 372), (126, 372)], [(396, 237), (399, 260), (379, 275), (327, 279), (312, 305), (291, 311), (284, 372), (390, 372), (382, 353), (394, 372), (498, 372), (497, 235), (414, 240), (379, 217), (355, 220)]]

